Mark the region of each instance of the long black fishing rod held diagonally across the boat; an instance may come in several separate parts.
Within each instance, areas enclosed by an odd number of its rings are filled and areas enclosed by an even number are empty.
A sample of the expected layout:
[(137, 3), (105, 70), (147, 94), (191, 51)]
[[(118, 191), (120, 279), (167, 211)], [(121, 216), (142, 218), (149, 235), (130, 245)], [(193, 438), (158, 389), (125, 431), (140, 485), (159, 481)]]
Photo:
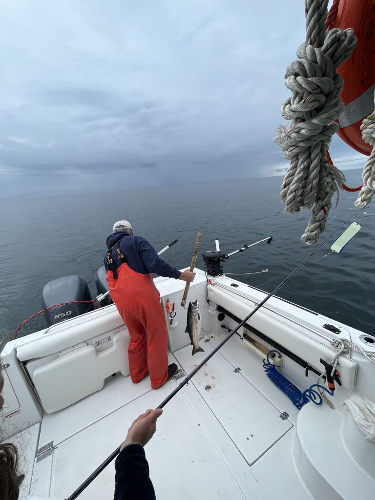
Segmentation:
[[(307, 262), (307, 260), (309, 260), (313, 255), (315, 255), (315, 253), (317, 252), (317, 250), (319, 250), (327, 241), (328, 239), (330, 239), (332, 236), (334, 236), (334, 234), (336, 234), (336, 232), (338, 232), (341, 227), (343, 227), (349, 220), (351, 220), (358, 212), (355, 212), (351, 217), (349, 217), (347, 220), (345, 220), (345, 222), (343, 224), (341, 224), (334, 232), (332, 232), (317, 248), (315, 248), (315, 250), (310, 253), (308, 255), (308, 257), (306, 257), (303, 262), (301, 262), (300, 264), (297, 265), (297, 267), (295, 267), (287, 276), (286, 278), (281, 281), (280, 284), (278, 284), (276, 286), (276, 288), (274, 290), (272, 290), (270, 293), (268, 293), (268, 295), (263, 298), (263, 300), (261, 302), (258, 303), (258, 305), (252, 309), (252, 311), (247, 314), (247, 316), (234, 328), (234, 330), (231, 330), (230, 333), (228, 334), (228, 336), (226, 336), (218, 345), (217, 347), (215, 347), (213, 349), (213, 351), (208, 354), (208, 356), (206, 356), (203, 361), (201, 363), (199, 363), (196, 368), (194, 368), (192, 370), (192, 372), (187, 375), (183, 380), (182, 382), (177, 385), (177, 387), (172, 390), (172, 392), (157, 406), (157, 408), (155, 409), (159, 409), (159, 408), (162, 408), (163, 406), (165, 406), (165, 404), (171, 400), (171, 398), (173, 396), (175, 396), (177, 394), (177, 392), (179, 392), (182, 387), (184, 385), (186, 385), (188, 383), (188, 381), (195, 375), (195, 373), (197, 373), (200, 368), (202, 368), (202, 366), (205, 365), (205, 363), (211, 359), (211, 357), (224, 345), (224, 343), (226, 343), (230, 337), (232, 337), (234, 335), (234, 333), (237, 332), (237, 330), (239, 330), (239, 328), (241, 328), (249, 319), (250, 317), (258, 310), (260, 309), (260, 307), (265, 304), (265, 302), (271, 298), (280, 288), (281, 286), (283, 286), (287, 281), (289, 281), (289, 279)], [(266, 238), (268, 239), (268, 238)], [(91, 475), (89, 475), (87, 477), (87, 479), (82, 482), (82, 484), (68, 497), (66, 498), (66, 500), (74, 500), (78, 495), (79, 493), (81, 493), (86, 486), (88, 486), (90, 484), (90, 482), (108, 465), (108, 463), (110, 463), (117, 455), (118, 453), (120, 452), (120, 447), (121, 445), (118, 446), (118, 448), (116, 448), (113, 453), (111, 453), (104, 461), (103, 463), (101, 463), (96, 470), (94, 470), (92, 472)]]

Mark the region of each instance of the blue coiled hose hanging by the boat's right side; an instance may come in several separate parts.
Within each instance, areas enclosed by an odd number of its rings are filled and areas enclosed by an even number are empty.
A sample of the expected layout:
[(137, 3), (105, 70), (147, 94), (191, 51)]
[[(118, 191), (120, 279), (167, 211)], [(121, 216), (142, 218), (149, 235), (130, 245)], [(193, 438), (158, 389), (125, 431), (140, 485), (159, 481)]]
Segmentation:
[(321, 395), (316, 389), (314, 389), (314, 387), (319, 387), (321, 390), (325, 390), (328, 394), (333, 396), (333, 392), (317, 383), (310, 385), (308, 389), (301, 392), (298, 387), (296, 387), (286, 377), (284, 377), (284, 375), (276, 370), (276, 366), (274, 364), (269, 362), (268, 356), (271, 352), (275, 352), (278, 356), (280, 356), (278, 350), (268, 351), (267, 359), (263, 359), (264, 371), (267, 374), (267, 377), (288, 396), (294, 406), (298, 409), (301, 409), (301, 407), (308, 403), (308, 401), (312, 401), (314, 404), (321, 404), (323, 402)]

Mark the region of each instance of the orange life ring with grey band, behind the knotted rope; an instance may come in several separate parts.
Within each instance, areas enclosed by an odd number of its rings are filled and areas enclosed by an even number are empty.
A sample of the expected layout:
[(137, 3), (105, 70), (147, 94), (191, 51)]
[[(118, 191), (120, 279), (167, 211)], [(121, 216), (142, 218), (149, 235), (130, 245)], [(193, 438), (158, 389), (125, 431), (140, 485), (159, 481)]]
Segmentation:
[(372, 146), (362, 139), (362, 119), (374, 109), (375, 90), (375, 1), (334, 0), (326, 28), (353, 28), (358, 44), (351, 56), (337, 68), (344, 79), (341, 98), (345, 108), (338, 118), (338, 135), (360, 153)]

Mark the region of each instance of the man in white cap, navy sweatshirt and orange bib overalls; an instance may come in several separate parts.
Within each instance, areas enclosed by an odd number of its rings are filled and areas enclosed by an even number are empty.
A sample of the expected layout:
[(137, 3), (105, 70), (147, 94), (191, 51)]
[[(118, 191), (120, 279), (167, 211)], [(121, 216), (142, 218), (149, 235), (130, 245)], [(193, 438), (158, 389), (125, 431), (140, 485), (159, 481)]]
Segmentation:
[(180, 272), (159, 258), (146, 239), (133, 235), (127, 220), (115, 222), (106, 244), (109, 294), (130, 335), (127, 352), (131, 381), (137, 383), (149, 374), (151, 387), (157, 389), (175, 375), (177, 365), (168, 366), (168, 333), (151, 272), (186, 282), (194, 279), (195, 272)]

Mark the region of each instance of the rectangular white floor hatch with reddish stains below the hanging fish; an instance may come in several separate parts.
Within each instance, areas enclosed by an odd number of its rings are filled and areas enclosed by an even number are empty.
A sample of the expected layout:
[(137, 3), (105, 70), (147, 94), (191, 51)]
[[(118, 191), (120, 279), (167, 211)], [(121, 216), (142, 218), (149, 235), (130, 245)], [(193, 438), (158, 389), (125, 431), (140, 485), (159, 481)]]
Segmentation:
[[(194, 356), (190, 345), (175, 353), (188, 373), (213, 350), (202, 340), (200, 347), (204, 352)], [(196, 373), (192, 383), (249, 465), (292, 427), (219, 352)]]

